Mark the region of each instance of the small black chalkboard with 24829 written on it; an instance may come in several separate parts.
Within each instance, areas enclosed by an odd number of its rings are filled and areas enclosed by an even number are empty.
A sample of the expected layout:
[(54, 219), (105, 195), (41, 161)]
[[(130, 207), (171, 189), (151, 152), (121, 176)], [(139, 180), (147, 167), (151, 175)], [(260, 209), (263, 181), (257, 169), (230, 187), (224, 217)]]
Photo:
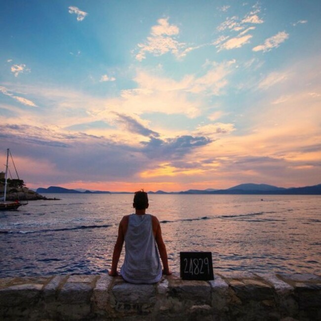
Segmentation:
[(214, 280), (211, 252), (180, 252), (182, 280)]

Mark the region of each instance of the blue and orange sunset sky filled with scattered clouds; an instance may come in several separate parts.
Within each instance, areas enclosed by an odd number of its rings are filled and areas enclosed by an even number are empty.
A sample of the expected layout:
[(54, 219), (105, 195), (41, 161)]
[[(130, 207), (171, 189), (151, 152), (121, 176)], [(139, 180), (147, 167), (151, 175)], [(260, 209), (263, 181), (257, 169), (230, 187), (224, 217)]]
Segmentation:
[(320, 13), (320, 0), (2, 1), (1, 164), (10, 148), (30, 188), (320, 184)]

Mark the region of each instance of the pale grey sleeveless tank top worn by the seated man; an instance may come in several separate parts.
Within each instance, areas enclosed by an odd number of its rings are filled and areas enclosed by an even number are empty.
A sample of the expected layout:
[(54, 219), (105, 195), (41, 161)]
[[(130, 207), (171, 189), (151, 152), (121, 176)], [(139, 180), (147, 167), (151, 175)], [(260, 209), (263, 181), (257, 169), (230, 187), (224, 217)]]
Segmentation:
[(150, 214), (130, 214), (125, 235), (125, 259), (120, 275), (130, 283), (161, 280), (161, 261)]

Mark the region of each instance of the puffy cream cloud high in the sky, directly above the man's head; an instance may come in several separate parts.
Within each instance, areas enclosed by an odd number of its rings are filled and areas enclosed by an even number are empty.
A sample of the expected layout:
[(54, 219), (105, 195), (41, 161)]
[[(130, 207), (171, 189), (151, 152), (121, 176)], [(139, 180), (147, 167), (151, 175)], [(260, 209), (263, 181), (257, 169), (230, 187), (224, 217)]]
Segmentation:
[(146, 58), (146, 53), (149, 52), (155, 56), (161, 56), (167, 52), (171, 52), (176, 57), (179, 56), (179, 51), (185, 46), (173, 38), (179, 34), (179, 28), (168, 23), (168, 18), (158, 20), (158, 25), (151, 28), (151, 35), (147, 37), (144, 43), (139, 43), (139, 52), (136, 55), (138, 61)]

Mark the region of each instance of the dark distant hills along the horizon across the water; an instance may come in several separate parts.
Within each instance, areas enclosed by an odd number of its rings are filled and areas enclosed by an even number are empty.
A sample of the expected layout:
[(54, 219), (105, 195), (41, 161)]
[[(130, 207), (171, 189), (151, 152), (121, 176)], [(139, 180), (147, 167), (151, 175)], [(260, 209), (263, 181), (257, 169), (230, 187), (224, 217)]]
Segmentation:
[[(38, 188), (39, 194), (132, 194), (132, 192), (109, 192), (109, 191), (89, 191), (72, 190), (58, 186), (48, 188)], [(183, 194), (183, 195), (321, 195), (321, 184), (314, 186), (283, 188), (267, 184), (240, 184), (225, 190), (206, 189), (206, 190), (188, 190), (181, 192), (148, 192), (149, 194)]]

